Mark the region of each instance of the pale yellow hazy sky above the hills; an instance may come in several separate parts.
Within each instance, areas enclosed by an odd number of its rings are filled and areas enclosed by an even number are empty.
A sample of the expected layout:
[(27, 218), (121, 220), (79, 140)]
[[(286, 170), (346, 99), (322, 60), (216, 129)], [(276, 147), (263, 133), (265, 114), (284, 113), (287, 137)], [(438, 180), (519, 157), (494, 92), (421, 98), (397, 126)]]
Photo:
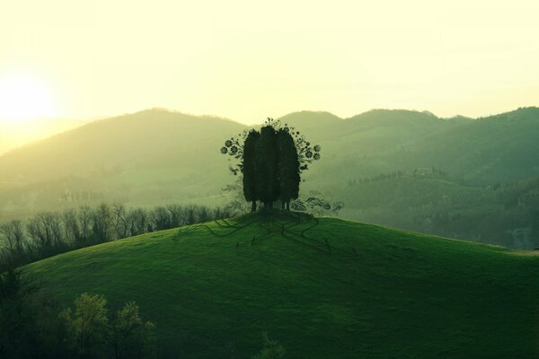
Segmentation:
[(538, 104), (538, 13), (536, 0), (5, 1), (0, 118), (485, 116)]

